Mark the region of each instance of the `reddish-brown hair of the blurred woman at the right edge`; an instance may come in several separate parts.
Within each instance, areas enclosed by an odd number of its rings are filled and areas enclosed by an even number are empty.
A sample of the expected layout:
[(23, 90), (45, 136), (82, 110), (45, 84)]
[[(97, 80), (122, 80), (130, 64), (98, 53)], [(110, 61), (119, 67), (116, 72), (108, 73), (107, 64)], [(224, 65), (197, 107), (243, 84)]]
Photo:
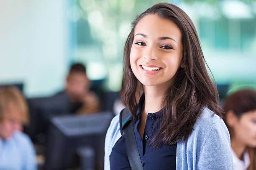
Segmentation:
[[(230, 137), (232, 140), (233, 129), (228, 125), (226, 121), (227, 112), (233, 110), (236, 117), (239, 119), (243, 114), (249, 111), (256, 110), (256, 91), (251, 89), (238, 90), (237, 92), (229, 95), (223, 103), (223, 120), (228, 127)], [(250, 156), (249, 170), (256, 169), (256, 148), (247, 148)]]

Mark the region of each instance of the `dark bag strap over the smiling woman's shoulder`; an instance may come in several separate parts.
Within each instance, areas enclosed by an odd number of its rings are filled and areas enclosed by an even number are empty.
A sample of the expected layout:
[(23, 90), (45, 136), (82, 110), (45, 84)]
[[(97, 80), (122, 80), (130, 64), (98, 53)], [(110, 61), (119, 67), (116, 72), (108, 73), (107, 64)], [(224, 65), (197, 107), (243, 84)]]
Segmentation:
[(133, 122), (131, 120), (133, 119), (128, 108), (125, 108), (120, 112), (120, 131), (125, 137), (126, 150), (131, 169), (143, 170), (141, 157), (138, 153), (138, 146), (134, 135)]

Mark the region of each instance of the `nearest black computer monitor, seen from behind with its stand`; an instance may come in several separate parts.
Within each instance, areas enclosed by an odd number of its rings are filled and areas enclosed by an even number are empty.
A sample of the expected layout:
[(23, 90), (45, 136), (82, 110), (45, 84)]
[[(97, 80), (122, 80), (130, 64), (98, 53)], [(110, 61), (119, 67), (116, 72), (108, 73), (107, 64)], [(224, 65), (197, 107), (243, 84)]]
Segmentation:
[(111, 112), (53, 117), (44, 169), (103, 170), (105, 134), (112, 118)]

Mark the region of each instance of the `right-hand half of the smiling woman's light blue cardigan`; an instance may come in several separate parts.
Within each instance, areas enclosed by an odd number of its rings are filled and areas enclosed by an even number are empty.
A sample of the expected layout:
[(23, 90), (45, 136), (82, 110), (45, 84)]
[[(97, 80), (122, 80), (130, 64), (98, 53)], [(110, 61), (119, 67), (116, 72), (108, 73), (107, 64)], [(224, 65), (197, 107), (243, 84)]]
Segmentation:
[(230, 136), (223, 120), (206, 107), (187, 140), (179, 141), (177, 160), (192, 169), (232, 169)]

